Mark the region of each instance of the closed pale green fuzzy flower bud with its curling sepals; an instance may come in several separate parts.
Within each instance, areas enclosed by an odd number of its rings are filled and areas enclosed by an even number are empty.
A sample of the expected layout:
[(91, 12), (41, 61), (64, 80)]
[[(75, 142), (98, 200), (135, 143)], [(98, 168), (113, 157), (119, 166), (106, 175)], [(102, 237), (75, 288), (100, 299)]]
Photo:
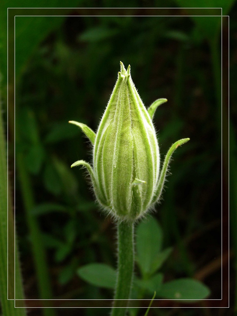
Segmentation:
[(87, 167), (97, 200), (117, 219), (136, 220), (160, 198), (168, 162), (173, 151), (189, 139), (176, 142), (169, 150), (161, 175), (160, 155), (152, 117), (166, 99), (156, 100), (147, 110), (132, 82), (130, 66), (121, 71), (95, 133), (78, 125), (93, 148), (94, 169), (84, 161), (72, 167)]

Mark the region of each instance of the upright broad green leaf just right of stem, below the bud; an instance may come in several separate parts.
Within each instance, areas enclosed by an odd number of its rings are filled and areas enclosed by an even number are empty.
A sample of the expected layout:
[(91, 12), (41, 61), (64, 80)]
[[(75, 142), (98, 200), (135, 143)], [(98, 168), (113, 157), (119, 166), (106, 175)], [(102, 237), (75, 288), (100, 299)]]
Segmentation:
[(153, 262), (161, 251), (162, 229), (153, 217), (137, 226), (137, 263), (143, 275), (150, 274)]

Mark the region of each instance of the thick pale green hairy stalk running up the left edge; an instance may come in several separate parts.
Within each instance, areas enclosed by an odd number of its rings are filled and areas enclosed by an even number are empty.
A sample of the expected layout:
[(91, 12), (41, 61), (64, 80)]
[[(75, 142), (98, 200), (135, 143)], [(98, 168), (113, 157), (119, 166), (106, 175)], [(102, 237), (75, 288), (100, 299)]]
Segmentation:
[[(18, 299), (24, 299), (23, 290), (22, 290), (22, 282), (21, 282), (21, 273), (20, 273), (20, 264), (18, 260), (18, 250), (17, 245), (15, 247), (15, 271), (14, 264), (9, 264), (8, 271), (8, 248), (7, 248), (7, 237), (8, 237), (8, 226), (9, 226), (9, 235), (12, 240), (14, 236), (14, 226), (13, 226), (13, 216), (12, 216), (12, 208), (9, 203), (9, 225), (8, 222), (8, 210), (7, 210), (7, 160), (6, 160), (6, 143), (4, 137), (3, 130), (3, 121), (2, 121), (2, 111), (0, 109), (0, 297), (1, 297), (1, 307), (2, 313), (4, 316), (25, 316), (26, 310), (25, 308), (15, 308), (15, 301), (8, 300), (8, 273), (9, 276), (14, 276), (15, 273), (15, 292)], [(12, 240), (13, 241), (13, 240)], [(14, 245), (14, 241), (10, 243), (11, 246)], [(14, 258), (14, 247), (9, 249), (13, 254)], [(10, 262), (10, 261), (9, 261)], [(12, 260), (11, 260), (12, 262)], [(9, 289), (11, 289), (11, 293), (9, 293), (9, 298), (14, 298), (14, 287), (13, 284), (9, 282)]]

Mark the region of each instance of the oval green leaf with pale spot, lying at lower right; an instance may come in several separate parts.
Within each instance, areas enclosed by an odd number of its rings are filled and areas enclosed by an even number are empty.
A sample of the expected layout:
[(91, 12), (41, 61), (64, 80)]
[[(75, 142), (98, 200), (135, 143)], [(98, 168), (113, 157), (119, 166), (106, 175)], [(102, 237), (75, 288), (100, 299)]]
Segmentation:
[(210, 290), (197, 280), (181, 278), (164, 283), (157, 295), (171, 300), (193, 301), (207, 298), (210, 295)]

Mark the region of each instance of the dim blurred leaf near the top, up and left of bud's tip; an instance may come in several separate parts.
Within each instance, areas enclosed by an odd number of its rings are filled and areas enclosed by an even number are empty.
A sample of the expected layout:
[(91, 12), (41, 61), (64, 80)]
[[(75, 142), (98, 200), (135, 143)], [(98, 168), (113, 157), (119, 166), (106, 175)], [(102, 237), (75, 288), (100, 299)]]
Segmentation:
[(80, 34), (78, 39), (85, 42), (100, 42), (101, 40), (106, 40), (117, 33), (118, 31), (115, 29), (94, 27)]

